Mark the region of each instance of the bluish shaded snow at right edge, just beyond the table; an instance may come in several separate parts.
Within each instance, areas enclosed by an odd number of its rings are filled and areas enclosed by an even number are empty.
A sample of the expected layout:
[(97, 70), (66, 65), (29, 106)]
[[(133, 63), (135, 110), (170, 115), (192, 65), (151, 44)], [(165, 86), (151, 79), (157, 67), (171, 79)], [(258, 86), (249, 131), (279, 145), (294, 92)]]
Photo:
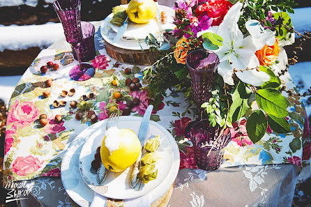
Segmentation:
[[(311, 86), (311, 60), (310, 62), (296, 63), (294, 66), (289, 67), (289, 74), (293, 79), (297, 89), (303, 93), (309, 89)], [(303, 98), (303, 103), (305, 104), (305, 109), (308, 116), (311, 115), (311, 103), (308, 105), (308, 98)]]

